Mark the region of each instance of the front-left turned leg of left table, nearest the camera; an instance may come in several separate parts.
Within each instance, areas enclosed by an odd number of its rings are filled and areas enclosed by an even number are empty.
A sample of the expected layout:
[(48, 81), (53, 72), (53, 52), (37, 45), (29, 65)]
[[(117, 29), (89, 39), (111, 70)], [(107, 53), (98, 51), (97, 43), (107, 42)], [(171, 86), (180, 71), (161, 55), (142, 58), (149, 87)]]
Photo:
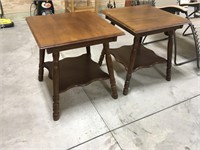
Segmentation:
[(59, 52), (53, 53), (53, 119), (58, 120), (59, 113)]

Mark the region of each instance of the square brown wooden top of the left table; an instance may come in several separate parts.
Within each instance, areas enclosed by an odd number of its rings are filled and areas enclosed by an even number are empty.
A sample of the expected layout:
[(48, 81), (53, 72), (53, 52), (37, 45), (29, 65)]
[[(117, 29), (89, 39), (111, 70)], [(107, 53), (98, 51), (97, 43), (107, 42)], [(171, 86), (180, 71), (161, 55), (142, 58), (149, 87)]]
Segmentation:
[(123, 35), (93, 12), (62, 13), (27, 17), (26, 21), (40, 49)]

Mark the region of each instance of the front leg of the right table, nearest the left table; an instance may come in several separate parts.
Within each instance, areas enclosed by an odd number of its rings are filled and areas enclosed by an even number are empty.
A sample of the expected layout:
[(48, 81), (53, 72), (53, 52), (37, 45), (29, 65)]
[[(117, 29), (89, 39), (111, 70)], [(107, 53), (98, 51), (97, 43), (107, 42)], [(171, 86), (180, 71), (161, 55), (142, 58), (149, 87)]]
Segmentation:
[(142, 37), (137, 37), (137, 36), (134, 38), (134, 44), (133, 44), (133, 48), (131, 50), (128, 71), (126, 74), (126, 80), (125, 80), (125, 84), (124, 84), (124, 90), (123, 90), (124, 95), (128, 94), (128, 88), (129, 88), (129, 84), (130, 84), (131, 74), (133, 71), (133, 67), (135, 65), (137, 51), (138, 51), (138, 48), (140, 47), (141, 39), (142, 39)]

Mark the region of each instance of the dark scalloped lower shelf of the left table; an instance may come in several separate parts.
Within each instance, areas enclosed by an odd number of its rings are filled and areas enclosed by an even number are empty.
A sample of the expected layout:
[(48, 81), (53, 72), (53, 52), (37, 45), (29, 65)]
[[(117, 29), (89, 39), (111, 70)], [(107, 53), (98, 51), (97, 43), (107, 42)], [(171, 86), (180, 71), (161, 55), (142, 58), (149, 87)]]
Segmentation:
[[(53, 62), (45, 62), (44, 67), (48, 69), (49, 78), (52, 79)], [(109, 79), (109, 75), (86, 54), (60, 60), (59, 70), (59, 92), (75, 86), (87, 85), (93, 81)]]

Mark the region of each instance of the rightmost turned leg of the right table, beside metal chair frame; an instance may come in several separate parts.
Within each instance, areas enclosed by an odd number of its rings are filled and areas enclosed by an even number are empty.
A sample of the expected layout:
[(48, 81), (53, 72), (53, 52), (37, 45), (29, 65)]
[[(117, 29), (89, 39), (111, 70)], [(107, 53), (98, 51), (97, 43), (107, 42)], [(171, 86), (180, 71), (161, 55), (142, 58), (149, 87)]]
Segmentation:
[(173, 34), (174, 31), (168, 32), (168, 46), (167, 46), (167, 70), (166, 70), (166, 80), (171, 80), (171, 66), (172, 66), (172, 48), (173, 48)]

